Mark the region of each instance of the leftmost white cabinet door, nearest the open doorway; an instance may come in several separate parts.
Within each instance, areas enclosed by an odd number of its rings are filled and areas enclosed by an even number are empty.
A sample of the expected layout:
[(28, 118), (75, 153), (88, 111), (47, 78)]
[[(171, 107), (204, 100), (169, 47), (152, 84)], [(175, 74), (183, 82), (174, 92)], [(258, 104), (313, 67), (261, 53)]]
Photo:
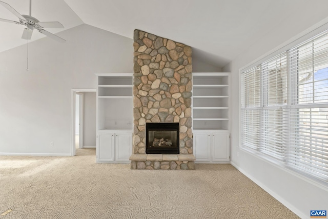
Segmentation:
[(114, 161), (114, 133), (98, 134), (97, 161)]

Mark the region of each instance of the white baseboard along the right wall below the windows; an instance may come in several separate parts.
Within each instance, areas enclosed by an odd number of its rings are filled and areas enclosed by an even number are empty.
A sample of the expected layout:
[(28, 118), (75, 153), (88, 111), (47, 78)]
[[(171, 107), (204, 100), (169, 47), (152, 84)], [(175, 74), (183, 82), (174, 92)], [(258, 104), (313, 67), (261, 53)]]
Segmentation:
[(268, 192), (271, 196), (276, 198), (281, 204), (283, 204), (286, 208), (293, 211), (297, 216), (300, 218), (308, 218), (309, 215), (305, 215), (303, 212), (301, 212), (298, 208), (296, 208), (294, 205), (292, 205), (290, 202), (287, 202), (283, 197), (278, 195), (277, 193), (273, 192), (271, 189), (269, 189), (267, 186), (256, 180), (254, 177), (250, 176), (247, 172), (245, 172), (243, 169), (238, 167), (235, 163), (230, 162), (232, 166), (234, 166), (237, 170), (239, 170), (242, 174), (247, 176), (251, 181), (253, 181), (255, 184), (257, 184), (259, 187), (261, 187), (263, 190)]

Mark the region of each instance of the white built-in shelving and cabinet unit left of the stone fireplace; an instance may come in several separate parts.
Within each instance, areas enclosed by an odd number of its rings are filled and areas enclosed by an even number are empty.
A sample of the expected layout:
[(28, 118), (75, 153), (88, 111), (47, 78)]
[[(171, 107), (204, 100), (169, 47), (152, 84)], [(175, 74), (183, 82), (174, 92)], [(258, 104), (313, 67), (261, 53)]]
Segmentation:
[(133, 73), (97, 75), (97, 162), (129, 163), (133, 133)]

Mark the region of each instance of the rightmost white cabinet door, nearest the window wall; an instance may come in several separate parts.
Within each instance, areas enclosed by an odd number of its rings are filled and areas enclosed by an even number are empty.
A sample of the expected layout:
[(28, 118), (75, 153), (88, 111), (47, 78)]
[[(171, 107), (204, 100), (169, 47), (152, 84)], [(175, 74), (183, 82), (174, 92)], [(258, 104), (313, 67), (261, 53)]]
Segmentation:
[(212, 161), (230, 160), (230, 134), (212, 134)]

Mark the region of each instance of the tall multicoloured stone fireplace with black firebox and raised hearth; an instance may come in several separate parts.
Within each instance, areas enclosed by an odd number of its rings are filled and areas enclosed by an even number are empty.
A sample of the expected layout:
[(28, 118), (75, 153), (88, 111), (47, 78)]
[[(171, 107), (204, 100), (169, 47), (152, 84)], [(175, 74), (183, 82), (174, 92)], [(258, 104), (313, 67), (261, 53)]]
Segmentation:
[[(131, 168), (194, 169), (191, 117), (192, 49), (140, 30), (134, 30), (133, 47), (134, 130)], [(165, 128), (158, 130), (158, 127), (167, 127), (167, 124), (178, 126), (177, 140), (174, 140), (177, 141), (176, 150), (170, 152), (167, 147), (167, 152), (162, 150), (159, 153), (154, 152), (156, 146), (147, 147), (150, 133), (146, 133), (146, 127), (154, 127), (154, 124), (157, 129), (151, 134), (169, 135), (170, 138), (174, 138), (171, 132)], [(172, 143), (172, 140), (165, 142), (161, 138), (154, 138), (161, 143), (153, 141), (151, 144), (168, 146)]]

